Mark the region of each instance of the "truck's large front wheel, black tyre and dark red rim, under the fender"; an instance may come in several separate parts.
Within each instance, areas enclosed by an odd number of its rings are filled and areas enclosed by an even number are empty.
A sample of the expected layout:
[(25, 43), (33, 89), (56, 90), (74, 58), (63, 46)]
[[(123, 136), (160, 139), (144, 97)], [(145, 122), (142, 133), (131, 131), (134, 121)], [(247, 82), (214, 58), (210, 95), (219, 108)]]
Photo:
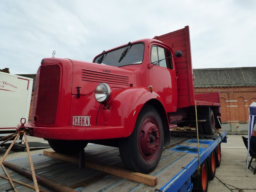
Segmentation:
[(164, 130), (161, 116), (151, 105), (144, 106), (131, 136), (119, 140), (124, 166), (132, 171), (153, 171), (162, 155)]

